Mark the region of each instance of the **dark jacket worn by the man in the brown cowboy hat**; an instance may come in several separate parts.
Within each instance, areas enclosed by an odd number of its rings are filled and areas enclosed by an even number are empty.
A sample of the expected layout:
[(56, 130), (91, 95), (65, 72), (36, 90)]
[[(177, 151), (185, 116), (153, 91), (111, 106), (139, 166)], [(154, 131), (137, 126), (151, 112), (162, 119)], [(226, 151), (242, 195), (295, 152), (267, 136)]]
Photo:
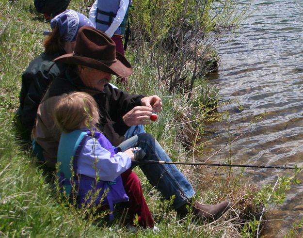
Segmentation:
[(35, 139), (44, 150), (44, 159), (50, 162), (51, 167), (56, 162), (61, 134), (54, 127), (53, 109), (62, 95), (70, 92), (86, 92), (95, 98), (100, 111), (97, 127), (114, 146), (123, 142), (124, 134), (129, 128), (122, 117), (132, 108), (141, 106), (141, 98), (144, 97), (129, 95), (122, 90), (113, 89), (109, 84), (105, 85), (102, 92), (87, 88), (71, 70), (66, 70), (63, 75), (54, 79), (39, 105), (34, 130)]

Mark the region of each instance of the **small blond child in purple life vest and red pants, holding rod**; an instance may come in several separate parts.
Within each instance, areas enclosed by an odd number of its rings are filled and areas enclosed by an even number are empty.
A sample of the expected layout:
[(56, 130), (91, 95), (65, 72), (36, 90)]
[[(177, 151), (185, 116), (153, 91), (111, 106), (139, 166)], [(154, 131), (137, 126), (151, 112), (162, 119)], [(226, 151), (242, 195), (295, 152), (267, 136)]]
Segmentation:
[[(85, 199), (90, 190), (101, 189), (96, 205), (106, 188), (106, 201), (113, 210), (112, 203), (123, 202), (128, 208), (130, 221), (138, 214), (139, 224), (154, 227), (154, 220), (145, 202), (138, 176), (131, 171), (131, 160), (136, 159), (134, 148), (118, 152), (109, 140), (95, 131), (99, 113), (94, 98), (83, 92), (64, 95), (54, 111), (56, 125), (62, 130), (58, 147), (58, 162), (61, 181), (67, 194), (76, 189), (80, 206), (87, 205)], [(70, 159), (73, 158), (74, 176), (72, 178)], [(98, 176), (99, 181), (96, 180)], [(71, 181), (71, 182), (70, 182)], [(106, 182), (110, 181), (110, 182)], [(104, 202), (101, 204), (105, 205)]]

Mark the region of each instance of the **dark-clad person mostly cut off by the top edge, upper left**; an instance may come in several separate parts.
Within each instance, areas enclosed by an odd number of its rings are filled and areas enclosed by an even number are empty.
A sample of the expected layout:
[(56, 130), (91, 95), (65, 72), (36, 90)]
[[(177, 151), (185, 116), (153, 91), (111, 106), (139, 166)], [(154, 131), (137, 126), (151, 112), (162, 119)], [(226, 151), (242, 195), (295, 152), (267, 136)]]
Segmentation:
[(64, 12), (69, 3), (70, 0), (34, 0), (37, 12), (43, 14), (48, 21)]

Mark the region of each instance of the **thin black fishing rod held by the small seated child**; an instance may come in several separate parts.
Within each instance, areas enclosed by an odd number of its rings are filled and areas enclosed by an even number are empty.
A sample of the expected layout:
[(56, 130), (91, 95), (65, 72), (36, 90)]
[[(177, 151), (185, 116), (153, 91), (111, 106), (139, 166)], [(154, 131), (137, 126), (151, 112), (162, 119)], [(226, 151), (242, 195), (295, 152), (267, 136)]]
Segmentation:
[(296, 169), (293, 166), (280, 166), (280, 165), (249, 165), (249, 164), (223, 164), (223, 163), (202, 163), (202, 162), (173, 162), (164, 160), (134, 160), (131, 161), (134, 165), (147, 165), (147, 164), (183, 164), (183, 165), (202, 165), (202, 166), (223, 166), (223, 167), (245, 167), (245, 168), (264, 168), (264, 169)]

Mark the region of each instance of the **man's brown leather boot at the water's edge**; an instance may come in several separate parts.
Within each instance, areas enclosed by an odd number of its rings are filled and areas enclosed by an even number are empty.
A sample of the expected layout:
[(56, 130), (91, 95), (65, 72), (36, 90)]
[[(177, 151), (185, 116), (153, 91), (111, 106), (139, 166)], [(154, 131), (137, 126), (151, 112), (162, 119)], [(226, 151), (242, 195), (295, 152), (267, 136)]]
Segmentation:
[[(184, 218), (188, 214), (186, 205), (191, 205), (191, 201), (176, 209), (179, 218)], [(195, 215), (195, 220), (213, 222), (219, 219), (230, 207), (232, 203), (224, 201), (217, 205), (202, 205), (198, 202), (194, 202), (192, 205), (192, 214)]]

